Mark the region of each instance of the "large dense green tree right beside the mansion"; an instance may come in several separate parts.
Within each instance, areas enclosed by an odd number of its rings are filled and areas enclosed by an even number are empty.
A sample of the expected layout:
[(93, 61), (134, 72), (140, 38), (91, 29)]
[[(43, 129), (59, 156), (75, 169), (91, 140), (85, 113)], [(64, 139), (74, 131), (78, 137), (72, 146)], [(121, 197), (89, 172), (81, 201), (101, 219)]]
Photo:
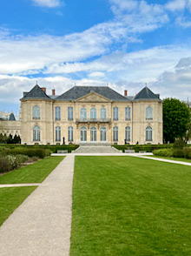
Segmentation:
[(163, 101), (163, 134), (165, 142), (174, 143), (175, 138), (185, 138), (190, 124), (187, 104), (176, 98)]

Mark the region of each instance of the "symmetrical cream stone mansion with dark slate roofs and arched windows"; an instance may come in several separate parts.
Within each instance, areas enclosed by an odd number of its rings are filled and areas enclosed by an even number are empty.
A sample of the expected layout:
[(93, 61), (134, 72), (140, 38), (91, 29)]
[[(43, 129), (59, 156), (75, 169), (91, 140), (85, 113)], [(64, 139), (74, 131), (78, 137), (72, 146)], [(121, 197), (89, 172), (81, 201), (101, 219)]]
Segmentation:
[(162, 101), (147, 86), (135, 97), (107, 86), (56, 96), (36, 84), (23, 94), (20, 115), (22, 144), (162, 144)]

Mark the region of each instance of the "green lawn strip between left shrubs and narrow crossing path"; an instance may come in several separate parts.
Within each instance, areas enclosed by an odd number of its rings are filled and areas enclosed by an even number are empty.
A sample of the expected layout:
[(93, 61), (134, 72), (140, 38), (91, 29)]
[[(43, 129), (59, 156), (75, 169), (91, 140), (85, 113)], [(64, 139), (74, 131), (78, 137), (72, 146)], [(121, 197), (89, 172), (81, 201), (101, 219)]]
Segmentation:
[(63, 157), (49, 157), (0, 176), (0, 184), (41, 183), (52, 172)]

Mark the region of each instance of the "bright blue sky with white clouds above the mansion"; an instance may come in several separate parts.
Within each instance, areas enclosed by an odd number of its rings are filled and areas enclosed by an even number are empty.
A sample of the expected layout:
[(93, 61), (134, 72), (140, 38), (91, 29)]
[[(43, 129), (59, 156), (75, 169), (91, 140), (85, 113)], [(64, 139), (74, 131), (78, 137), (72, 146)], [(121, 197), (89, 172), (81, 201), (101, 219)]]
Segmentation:
[(191, 100), (191, 0), (9, 0), (0, 3), (0, 110), (37, 83)]

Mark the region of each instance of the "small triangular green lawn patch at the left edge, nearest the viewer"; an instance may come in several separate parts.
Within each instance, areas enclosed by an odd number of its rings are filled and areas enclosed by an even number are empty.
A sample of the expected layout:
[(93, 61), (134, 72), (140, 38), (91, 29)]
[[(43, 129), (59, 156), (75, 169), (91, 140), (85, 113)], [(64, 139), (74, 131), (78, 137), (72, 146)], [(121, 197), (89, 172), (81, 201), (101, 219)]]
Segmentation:
[(0, 188), (0, 226), (35, 189), (36, 186)]

